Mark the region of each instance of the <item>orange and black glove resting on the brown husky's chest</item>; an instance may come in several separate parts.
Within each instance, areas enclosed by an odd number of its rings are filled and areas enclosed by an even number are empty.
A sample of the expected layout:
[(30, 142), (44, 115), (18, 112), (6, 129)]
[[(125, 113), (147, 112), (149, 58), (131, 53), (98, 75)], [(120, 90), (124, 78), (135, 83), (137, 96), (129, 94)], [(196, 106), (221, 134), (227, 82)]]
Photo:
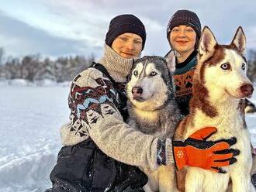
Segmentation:
[(218, 173), (227, 173), (221, 166), (228, 166), (235, 162), (240, 152), (230, 149), (237, 142), (236, 138), (206, 141), (217, 131), (214, 127), (199, 129), (182, 141), (173, 141), (175, 165), (180, 170), (184, 166), (198, 166), (202, 169), (213, 170)]

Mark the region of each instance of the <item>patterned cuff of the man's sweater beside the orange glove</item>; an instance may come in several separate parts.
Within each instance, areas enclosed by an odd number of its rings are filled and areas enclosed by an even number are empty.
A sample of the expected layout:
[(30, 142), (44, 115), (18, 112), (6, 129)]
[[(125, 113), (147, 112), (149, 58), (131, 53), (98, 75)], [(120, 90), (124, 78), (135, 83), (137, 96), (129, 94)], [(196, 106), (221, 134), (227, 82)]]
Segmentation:
[(175, 163), (172, 154), (172, 144), (171, 139), (157, 141), (157, 164), (161, 165), (171, 165)]

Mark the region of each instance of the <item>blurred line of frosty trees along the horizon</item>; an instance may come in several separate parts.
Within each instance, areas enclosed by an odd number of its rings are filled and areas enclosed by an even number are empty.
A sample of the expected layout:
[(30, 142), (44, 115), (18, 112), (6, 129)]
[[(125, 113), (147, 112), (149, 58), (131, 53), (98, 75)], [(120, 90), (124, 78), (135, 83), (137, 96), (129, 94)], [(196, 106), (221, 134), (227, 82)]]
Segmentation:
[[(41, 58), (40, 54), (29, 55), (22, 58), (9, 57), (3, 61), (4, 50), (0, 48), (0, 80), (17, 78), (28, 81), (50, 79), (57, 82), (71, 81), (78, 73), (89, 67), (95, 58), (74, 56), (58, 57), (52, 60)], [(248, 50), (248, 77), (256, 81), (256, 50)]]

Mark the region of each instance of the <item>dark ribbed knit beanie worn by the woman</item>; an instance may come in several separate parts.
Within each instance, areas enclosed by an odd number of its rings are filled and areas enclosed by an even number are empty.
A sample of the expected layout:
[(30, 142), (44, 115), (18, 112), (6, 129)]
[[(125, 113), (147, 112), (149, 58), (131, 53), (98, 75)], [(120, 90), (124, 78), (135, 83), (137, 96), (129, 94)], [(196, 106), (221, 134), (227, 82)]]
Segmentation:
[(169, 40), (171, 29), (173, 29), (175, 26), (182, 25), (191, 26), (195, 30), (197, 39), (200, 39), (201, 22), (195, 12), (191, 12), (189, 10), (178, 10), (174, 15), (172, 15), (167, 26), (167, 39)]

